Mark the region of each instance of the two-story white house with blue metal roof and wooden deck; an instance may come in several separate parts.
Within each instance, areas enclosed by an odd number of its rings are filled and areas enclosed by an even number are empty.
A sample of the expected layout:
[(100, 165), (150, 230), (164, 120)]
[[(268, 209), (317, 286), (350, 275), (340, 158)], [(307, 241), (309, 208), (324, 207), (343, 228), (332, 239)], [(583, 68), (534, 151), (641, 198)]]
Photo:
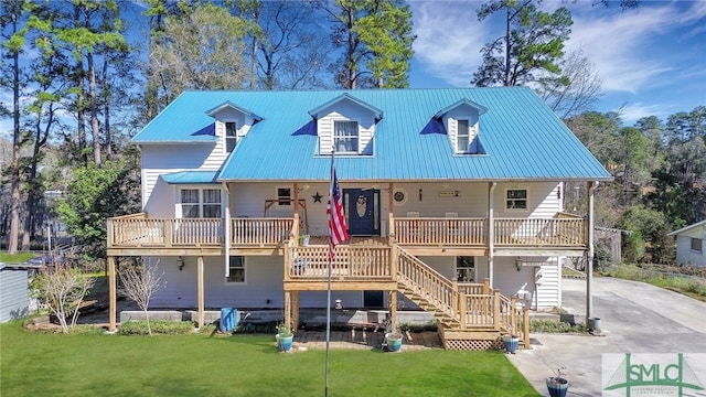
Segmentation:
[[(351, 238), (334, 298), (431, 311), (451, 347), (516, 326), (501, 318), (517, 301), (561, 304), (561, 258), (591, 262), (593, 191), (611, 179), (526, 87), (185, 92), (132, 142), (143, 212), (108, 221), (113, 291), (115, 258), (143, 256), (167, 281), (153, 307), (195, 308), (200, 326), (206, 308), (284, 309), (296, 326), (327, 304), (335, 153)], [(567, 181), (588, 216), (565, 212)]]

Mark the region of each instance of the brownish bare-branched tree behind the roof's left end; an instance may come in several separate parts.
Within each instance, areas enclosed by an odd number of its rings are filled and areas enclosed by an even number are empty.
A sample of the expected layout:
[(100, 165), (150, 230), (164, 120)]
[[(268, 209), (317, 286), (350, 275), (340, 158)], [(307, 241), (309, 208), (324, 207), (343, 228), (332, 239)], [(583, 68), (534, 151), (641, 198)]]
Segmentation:
[(196, 6), (167, 17), (150, 50), (150, 81), (159, 82), (159, 108), (184, 89), (240, 89), (247, 77), (243, 39), (252, 26), (224, 8)]

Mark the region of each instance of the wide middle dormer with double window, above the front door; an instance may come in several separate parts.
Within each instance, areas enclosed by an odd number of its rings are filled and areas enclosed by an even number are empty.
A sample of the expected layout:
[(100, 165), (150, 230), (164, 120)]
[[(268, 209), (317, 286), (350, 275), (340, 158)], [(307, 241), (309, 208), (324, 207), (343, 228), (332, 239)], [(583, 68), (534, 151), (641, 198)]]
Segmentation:
[(317, 120), (319, 154), (373, 154), (375, 125), (383, 111), (345, 93), (309, 110)]

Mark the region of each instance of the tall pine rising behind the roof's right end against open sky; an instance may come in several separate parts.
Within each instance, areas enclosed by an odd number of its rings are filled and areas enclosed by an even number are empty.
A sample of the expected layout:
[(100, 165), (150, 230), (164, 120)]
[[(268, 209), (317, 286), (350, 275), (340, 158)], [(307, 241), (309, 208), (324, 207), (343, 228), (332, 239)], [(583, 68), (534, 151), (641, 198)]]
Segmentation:
[(481, 50), (483, 61), (471, 84), (515, 86), (559, 76), (558, 61), (568, 39), (570, 12), (561, 7), (553, 13), (537, 10), (533, 0), (494, 0), (478, 10), (478, 20), (505, 11), (505, 33)]

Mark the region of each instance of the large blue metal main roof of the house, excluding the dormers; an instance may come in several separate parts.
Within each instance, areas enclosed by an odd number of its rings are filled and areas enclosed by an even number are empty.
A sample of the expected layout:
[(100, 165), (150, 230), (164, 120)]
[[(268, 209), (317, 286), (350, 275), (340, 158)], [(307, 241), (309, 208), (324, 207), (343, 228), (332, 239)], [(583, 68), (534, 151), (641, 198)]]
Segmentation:
[[(263, 118), (231, 153), (217, 180), (325, 181), (309, 111), (353, 96), (379, 109), (372, 155), (336, 155), (341, 180), (610, 180), (611, 175), (527, 87), (312, 92), (185, 92), (133, 138), (136, 143), (199, 141), (206, 111), (226, 101)], [(480, 117), (484, 154), (454, 154), (435, 116), (459, 104)], [(199, 132), (201, 131), (201, 132)], [(214, 138), (215, 139), (215, 138)]]

